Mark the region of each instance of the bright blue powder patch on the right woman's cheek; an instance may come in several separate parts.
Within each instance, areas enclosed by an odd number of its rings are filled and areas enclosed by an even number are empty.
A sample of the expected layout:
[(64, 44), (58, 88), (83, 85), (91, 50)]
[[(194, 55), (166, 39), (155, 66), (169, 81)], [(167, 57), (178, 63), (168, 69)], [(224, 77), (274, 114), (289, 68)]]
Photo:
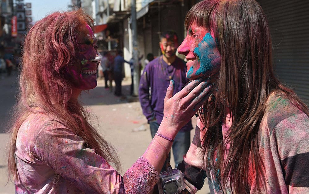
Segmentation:
[[(203, 43), (207, 42), (208, 47), (203, 47)], [(211, 59), (208, 58), (210, 54), (209, 48), (210, 45), (214, 45), (213, 38), (211, 37), (210, 33), (205, 34), (203, 40), (198, 44), (198, 47), (194, 49), (194, 53), (198, 56), (199, 62), (201, 63), (201, 67), (196, 71), (196, 75), (203, 75), (206, 74), (207, 71), (211, 71), (213, 66), (211, 64)]]

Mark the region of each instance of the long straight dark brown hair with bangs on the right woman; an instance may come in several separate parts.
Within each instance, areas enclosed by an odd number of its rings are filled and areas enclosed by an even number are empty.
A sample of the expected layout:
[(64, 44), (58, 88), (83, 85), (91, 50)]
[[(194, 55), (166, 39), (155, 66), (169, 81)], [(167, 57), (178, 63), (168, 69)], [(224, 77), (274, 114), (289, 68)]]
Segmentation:
[[(185, 27), (193, 22), (214, 31), (222, 56), (218, 90), (200, 114), (207, 129), (202, 139), (205, 166), (218, 180), (215, 187), (232, 193), (250, 192), (248, 169), (252, 168), (257, 192), (263, 193), (268, 183), (257, 134), (267, 98), (281, 91), (308, 115), (307, 106), (273, 73), (269, 25), (256, 1), (204, 0), (188, 12)], [(222, 124), (228, 113), (232, 123), (223, 142)]]

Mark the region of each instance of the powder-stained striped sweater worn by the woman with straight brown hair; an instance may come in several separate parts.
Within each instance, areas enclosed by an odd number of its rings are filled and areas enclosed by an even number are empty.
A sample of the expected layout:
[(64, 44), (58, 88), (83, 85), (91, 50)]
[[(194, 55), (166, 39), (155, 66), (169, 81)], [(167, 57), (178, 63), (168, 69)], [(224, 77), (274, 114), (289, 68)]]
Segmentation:
[[(232, 121), (227, 115), (222, 126), (223, 140)], [(203, 166), (201, 139), (206, 130), (197, 119), (197, 127), (189, 151), (179, 169), (184, 172), (186, 188), (195, 193), (207, 175), (211, 193), (223, 193), (213, 174)], [(309, 193), (309, 118), (285, 95), (272, 94), (260, 123), (259, 151), (268, 181), (267, 193)], [(229, 146), (227, 145), (227, 148)], [(226, 150), (228, 152), (228, 150)], [(202, 171), (201, 171), (202, 169)], [(248, 169), (252, 175), (252, 169)], [(249, 177), (250, 193), (256, 193), (256, 182)], [(223, 188), (224, 193), (229, 193)]]

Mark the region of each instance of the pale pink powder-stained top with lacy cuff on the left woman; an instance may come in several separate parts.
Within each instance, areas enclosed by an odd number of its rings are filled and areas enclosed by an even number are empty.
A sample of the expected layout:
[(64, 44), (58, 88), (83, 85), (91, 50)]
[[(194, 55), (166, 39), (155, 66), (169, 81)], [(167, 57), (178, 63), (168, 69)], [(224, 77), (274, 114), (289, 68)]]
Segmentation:
[(30, 114), (18, 131), (17, 193), (145, 193), (159, 179), (144, 158), (122, 177), (56, 119)]

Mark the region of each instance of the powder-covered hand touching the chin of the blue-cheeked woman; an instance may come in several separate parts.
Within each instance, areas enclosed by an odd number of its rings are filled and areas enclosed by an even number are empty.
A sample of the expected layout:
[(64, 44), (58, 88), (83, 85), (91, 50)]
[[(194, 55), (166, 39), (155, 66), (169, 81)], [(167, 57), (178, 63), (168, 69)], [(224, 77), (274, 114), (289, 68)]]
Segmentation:
[(171, 80), (164, 99), (164, 116), (160, 124), (160, 131), (164, 130), (162, 133), (169, 137), (175, 137), (177, 132), (208, 100), (211, 86), (209, 79), (199, 78), (190, 82), (173, 96), (174, 81)]

